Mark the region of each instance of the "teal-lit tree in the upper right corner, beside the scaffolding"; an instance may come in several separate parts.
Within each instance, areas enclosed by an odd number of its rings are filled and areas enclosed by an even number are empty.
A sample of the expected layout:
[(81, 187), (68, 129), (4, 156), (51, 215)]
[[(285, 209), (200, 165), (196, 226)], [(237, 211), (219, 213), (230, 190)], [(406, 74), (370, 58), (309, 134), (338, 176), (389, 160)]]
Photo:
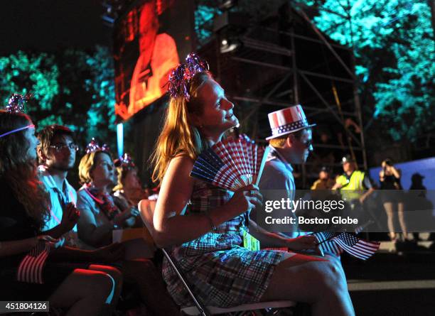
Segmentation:
[(377, 129), (394, 141), (413, 141), (435, 129), (434, 32), (427, 1), (326, 0), (314, 22), (334, 40), (353, 45), (365, 114)]

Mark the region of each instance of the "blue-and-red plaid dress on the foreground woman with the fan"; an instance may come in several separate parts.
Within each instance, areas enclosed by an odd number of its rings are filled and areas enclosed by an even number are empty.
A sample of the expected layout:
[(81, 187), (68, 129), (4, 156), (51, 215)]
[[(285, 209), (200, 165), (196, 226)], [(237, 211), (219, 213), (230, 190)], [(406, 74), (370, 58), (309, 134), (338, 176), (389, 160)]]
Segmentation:
[[(186, 214), (209, 212), (225, 204), (232, 192), (195, 181)], [(249, 251), (243, 247), (242, 231), (247, 219), (241, 214), (198, 239), (166, 249), (188, 279), (193, 293), (205, 303), (231, 307), (256, 303), (267, 289), (281, 251)], [(178, 305), (193, 305), (176, 272), (163, 261), (163, 278)]]

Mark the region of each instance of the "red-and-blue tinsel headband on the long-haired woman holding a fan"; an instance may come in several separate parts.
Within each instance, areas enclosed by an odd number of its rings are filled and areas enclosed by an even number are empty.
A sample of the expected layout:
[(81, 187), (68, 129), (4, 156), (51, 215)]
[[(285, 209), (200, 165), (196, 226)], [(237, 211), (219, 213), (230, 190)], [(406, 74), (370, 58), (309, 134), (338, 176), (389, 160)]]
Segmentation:
[(190, 99), (189, 85), (193, 76), (198, 72), (208, 71), (208, 63), (201, 60), (195, 53), (186, 57), (186, 62), (178, 65), (169, 76), (169, 94), (171, 97), (183, 96), (188, 102)]

